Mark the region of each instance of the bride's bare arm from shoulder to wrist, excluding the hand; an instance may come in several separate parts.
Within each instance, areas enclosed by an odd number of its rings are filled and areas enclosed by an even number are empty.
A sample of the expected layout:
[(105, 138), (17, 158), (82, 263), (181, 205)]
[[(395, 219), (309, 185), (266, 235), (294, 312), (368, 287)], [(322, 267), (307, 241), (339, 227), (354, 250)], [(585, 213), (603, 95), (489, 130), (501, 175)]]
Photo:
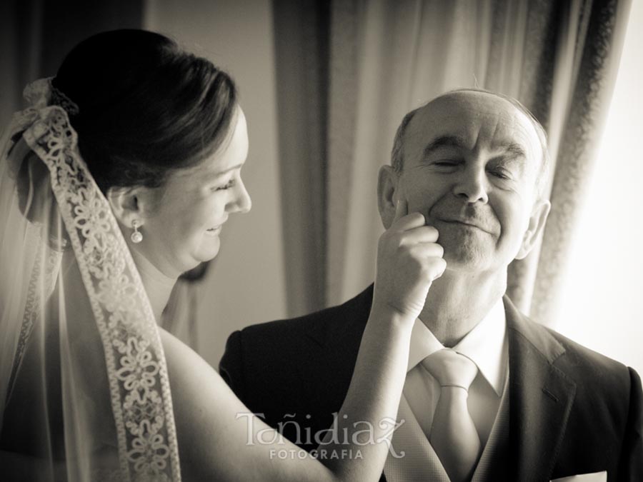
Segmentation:
[[(362, 338), (357, 365), (346, 400), (339, 412), (339, 433), (348, 428), (349, 445), (324, 446), (327, 453), (351, 453), (359, 458), (287, 456), (302, 449), (281, 438), (260, 418), (248, 416), (249, 409), (234, 395), (199, 355), (181, 341), (161, 331), (174, 404), (181, 473), (184, 481), (377, 481), (387, 456), (384, 441), (357, 445), (352, 433), (355, 421), (373, 427), (374, 440), (392, 432), (399, 396), (407, 367), (410, 323), (392, 323), (394, 316), (376, 321), (372, 316)], [(397, 326), (396, 326), (397, 325)], [(382, 356), (384, 353), (384, 356)], [(349, 418), (344, 418), (347, 414)], [(379, 425), (384, 418), (389, 424)], [(259, 434), (260, 431), (268, 430)], [(342, 438), (342, 437), (339, 437)], [(258, 441), (274, 441), (259, 443)], [(323, 462), (323, 463), (322, 463)], [(326, 465), (324, 465), (326, 464)]]

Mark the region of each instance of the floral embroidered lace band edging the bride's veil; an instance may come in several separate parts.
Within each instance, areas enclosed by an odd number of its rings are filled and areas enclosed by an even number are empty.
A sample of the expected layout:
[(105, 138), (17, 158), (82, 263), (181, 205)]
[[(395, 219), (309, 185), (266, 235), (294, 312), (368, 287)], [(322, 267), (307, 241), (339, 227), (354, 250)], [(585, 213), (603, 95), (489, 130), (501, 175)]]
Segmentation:
[(44, 161), (74, 248), (105, 353), (121, 478), (180, 481), (176, 429), (159, 331), (108, 202), (81, 159), (49, 79), (27, 87), (24, 139)]

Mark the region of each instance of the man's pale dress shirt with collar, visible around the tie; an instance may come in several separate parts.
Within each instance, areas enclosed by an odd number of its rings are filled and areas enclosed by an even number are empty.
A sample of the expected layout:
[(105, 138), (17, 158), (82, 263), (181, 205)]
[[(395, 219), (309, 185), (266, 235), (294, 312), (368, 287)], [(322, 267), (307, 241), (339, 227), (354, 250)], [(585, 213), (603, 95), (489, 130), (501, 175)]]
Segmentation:
[[(483, 447), (498, 413), (507, 376), (509, 346), (506, 332), (507, 320), (500, 298), (487, 316), (453, 347), (478, 367), (478, 374), (469, 387), (467, 404)], [(411, 333), (404, 396), (427, 438), (431, 436), (440, 385), (420, 362), (442, 348), (442, 343), (418, 318)]]

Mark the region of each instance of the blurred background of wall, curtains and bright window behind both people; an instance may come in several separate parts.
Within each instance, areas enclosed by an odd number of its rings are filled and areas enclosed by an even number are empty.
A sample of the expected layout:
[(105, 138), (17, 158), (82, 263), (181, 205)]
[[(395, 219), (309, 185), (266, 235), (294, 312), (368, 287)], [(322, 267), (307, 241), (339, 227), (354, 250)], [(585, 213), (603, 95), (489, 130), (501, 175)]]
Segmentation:
[(537, 321), (643, 371), (640, 1), (11, 1), (0, 6), (0, 120), (96, 31), (145, 28), (229, 71), (249, 125), (253, 199), (164, 324), (213, 366), (231, 331), (342, 302), (372, 282), (375, 186), (397, 124), (479, 86), (549, 134), (552, 214), (511, 266)]

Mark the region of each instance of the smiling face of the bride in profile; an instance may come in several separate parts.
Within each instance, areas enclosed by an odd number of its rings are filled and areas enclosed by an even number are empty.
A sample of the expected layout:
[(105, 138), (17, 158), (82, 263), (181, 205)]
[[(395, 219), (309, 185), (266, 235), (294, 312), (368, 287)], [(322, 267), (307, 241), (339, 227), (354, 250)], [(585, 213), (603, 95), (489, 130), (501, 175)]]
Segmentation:
[(248, 154), (241, 108), (232, 129), (231, 137), (208, 159), (171, 174), (144, 219), (144, 239), (136, 248), (166, 276), (178, 276), (214, 258), (228, 216), (250, 209), (250, 196), (241, 181)]

